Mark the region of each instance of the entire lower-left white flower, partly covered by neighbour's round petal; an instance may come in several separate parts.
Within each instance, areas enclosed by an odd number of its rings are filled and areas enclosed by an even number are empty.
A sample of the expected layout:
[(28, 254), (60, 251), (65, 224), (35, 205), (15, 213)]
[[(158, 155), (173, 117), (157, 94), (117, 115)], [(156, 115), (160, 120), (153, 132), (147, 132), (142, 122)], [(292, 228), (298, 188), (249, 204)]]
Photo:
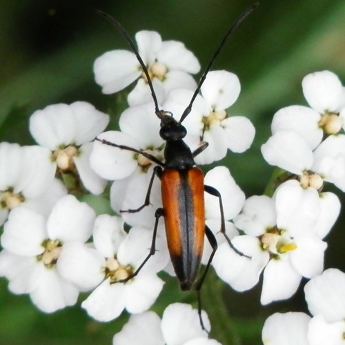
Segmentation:
[(12, 293), (28, 293), (41, 311), (52, 313), (77, 302), (79, 289), (61, 276), (57, 262), (63, 246), (90, 237), (95, 212), (72, 195), (61, 198), (48, 219), (15, 208), (1, 235), (0, 275)]

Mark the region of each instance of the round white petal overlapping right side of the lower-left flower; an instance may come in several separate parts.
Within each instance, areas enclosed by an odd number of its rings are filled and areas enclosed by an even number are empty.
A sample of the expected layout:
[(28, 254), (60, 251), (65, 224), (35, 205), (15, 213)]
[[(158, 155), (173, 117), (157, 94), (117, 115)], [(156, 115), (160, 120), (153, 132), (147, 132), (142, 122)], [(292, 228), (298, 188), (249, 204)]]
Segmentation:
[(57, 270), (63, 279), (75, 284), (81, 291), (95, 288), (104, 279), (104, 257), (94, 248), (80, 242), (63, 244)]

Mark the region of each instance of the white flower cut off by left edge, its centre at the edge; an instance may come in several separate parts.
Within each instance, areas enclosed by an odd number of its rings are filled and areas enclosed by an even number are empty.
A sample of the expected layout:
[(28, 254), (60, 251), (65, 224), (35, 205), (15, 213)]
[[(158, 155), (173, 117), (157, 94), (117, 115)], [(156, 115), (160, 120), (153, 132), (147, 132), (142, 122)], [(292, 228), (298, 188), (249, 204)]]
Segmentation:
[(50, 155), (50, 150), (40, 146), (0, 144), (0, 225), (17, 206), (47, 215), (57, 199), (66, 194), (54, 179)]

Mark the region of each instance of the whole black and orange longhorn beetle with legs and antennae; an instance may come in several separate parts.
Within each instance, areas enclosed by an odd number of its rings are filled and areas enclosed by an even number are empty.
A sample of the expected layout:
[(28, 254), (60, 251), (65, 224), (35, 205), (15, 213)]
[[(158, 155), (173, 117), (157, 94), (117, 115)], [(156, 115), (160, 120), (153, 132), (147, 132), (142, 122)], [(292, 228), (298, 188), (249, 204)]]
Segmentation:
[[(221, 48), (224, 46), (224, 43), (237, 29), (239, 24), (242, 23), (248, 14), (253, 12), (258, 5), (259, 3), (255, 3), (253, 6), (248, 8), (237, 19), (237, 21), (235, 21), (228, 32), (226, 32), (212, 59), (210, 59), (208, 66), (204, 70), (204, 73), (201, 75), (197, 89), (195, 90), (192, 99), (190, 99), (189, 105), (184, 110), (179, 121), (176, 121), (170, 112), (159, 109), (157, 97), (152, 86), (148, 69), (146, 68), (144, 61), (141, 59), (135, 44), (133, 43), (132, 39), (130, 39), (126, 30), (124, 30), (121, 24), (109, 14), (97, 11), (98, 14), (100, 14), (102, 17), (105, 17), (108, 21), (110, 21), (110, 23), (112, 23), (113, 26), (115, 26), (115, 28), (117, 28), (117, 30), (119, 30), (121, 35), (124, 37), (124, 39), (126, 39), (127, 43), (132, 48), (132, 51), (135, 53), (137, 60), (139, 61), (144, 74), (146, 75), (148, 86), (150, 87), (152, 99), (155, 103), (155, 114), (161, 120), (161, 129), (159, 130), (159, 135), (162, 139), (164, 139), (164, 141), (166, 141), (164, 148), (164, 161), (160, 161), (155, 156), (150, 155), (147, 152), (130, 148), (128, 146), (115, 144), (105, 139), (96, 138), (96, 140), (101, 141), (102, 144), (114, 146), (121, 150), (136, 152), (157, 164), (153, 170), (152, 177), (148, 185), (144, 204), (142, 204), (139, 208), (121, 210), (121, 212), (137, 213), (144, 207), (148, 206), (150, 204), (150, 192), (155, 176), (159, 177), (161, 180), (161, 197), (163, 208), (157, 208), (155, 212), (155, 226), (153, 228), (150, 253), (144, 259), (144, 262), (142, 262), (137, 268), (137, 270), (135, 270), (130, 277), (124, 279), (122, 282), (127, 282), (132, 277), (135, 277), (135, 275), (137, 275), (141, 268), (146, 264), (148, 259), (155, 254), (155, 239), (157, 235), (158, 222), (160, 217), (164, 217), (168, 250), (172, 265), (174, 266), (175, 273), (179, 281), (179, 286), (181, 287), (181, 290), (190, 290), (197, 279), (201, 255), (204, 248), (204, 235), (206, 235), (213, 250), (208, 259), (204, 273), (201, 275), (195, 286), (198, 299), (199, 319), (203, 329), (205, 329), (205, 327), (201, 318), (200, 289), (208, 269), (210, 268), (215, 251), (217, 250), (217, 241), (215, 239), (215, 235), (213, 235), (210, 228), (208, 228), (208, 226), (205, 224), (204, 192), (214, 195), (219, 200), (219, 209), (221, 213), (220, 231), (223, 233), (230, 247), (233, 248), (238, 255), (245, 257), (248, 256), (237, 250), (226, 235), (221, 195), (215, 188), (204, 185), (204, 174), (199, 168), (197, 168), (195, 164), (194, 157), (204, 151), (207, 148), (208, 143), (202, 142), (199, 148), (192, 152), (184, 142), (184, 137), (186, 137), (187, 130), (181, 123), (184, 121), (184, 119), (186, 119), (192, 110), (193, 102), (195, 101), (195, 98), (197, 97), (200, 88), (204, 83), (211, 66), (213, 65), (213, 62), (215, 61), (217, 55), (219, 55)], [(248, 258), (250, 259), (250, 257)]]

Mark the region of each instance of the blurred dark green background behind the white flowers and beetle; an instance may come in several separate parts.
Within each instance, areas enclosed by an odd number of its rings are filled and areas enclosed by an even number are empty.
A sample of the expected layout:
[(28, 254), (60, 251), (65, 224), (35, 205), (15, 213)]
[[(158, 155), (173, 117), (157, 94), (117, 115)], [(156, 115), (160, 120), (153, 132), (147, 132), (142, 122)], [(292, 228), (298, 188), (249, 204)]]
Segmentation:
[[(112, 14), (132, 36), (150, 29), (160, 32), (164, 39), (184, 41), (206, 66), (224, 32), (252, 3), (2, 0), (0, 140), (33, 144), (28, 117), (51, 103), (89, 101), (99, 110), (110, 112), (112, 124), (116, 123), (117, 96), (101, 94), (93, 79), (92, 63), (107, 50), (127, 46), (95, 9)], [(301, 87), (304, 75), (328, 69), (345, 81), (344, 18), (344, 0), (263, 0), (217, 59), (213, 69), (235, 72), (242, 83), (232, 113), (248, 116), (257, 129), (253, 148), (244, 155), (229, 155), (223, 162), (247, 196), (262, 194), (273, 171), (259, 151), (270, 135), (273, 114), (283, 106), (306, 105)], [(333, 191), (342, 196), (339, 190)], [(326, 268), (345, 270), (344, 222), (341, 215), (327, 237)], [(207, 296), (213, 295), (218, 283), (212, 274), (206, 280), (204, 306), (208, 311)], [(302, 288), (292, 299), (264, 308), (259, 304), (260, 289), (258, 286), (239, 294), (226, 288), (224, 296), (217, 296), (224, 297), (230, 314), (230, 322), (224, 322), (223, 327), (232, 335), (228, 343), (222, 339), (224, 344), (261, 344), (261, 329), (268, 315), (306, 311)], [(181, 294), (174, 281), (166, 284), (164, 295), (169, 302), (195, 297)], [(157, 305), (157, 311), (162, 311), (166, 300), (160, 297)], [(208, 312), (211, 318), (217, 317), (217, 311)], [(6, 280), (0, 279), (0, 320), (0, 344), (110, 344), (126, 317), (100, 324), (79, 307), (43, 315), (28, 296), (8, 293)]]

